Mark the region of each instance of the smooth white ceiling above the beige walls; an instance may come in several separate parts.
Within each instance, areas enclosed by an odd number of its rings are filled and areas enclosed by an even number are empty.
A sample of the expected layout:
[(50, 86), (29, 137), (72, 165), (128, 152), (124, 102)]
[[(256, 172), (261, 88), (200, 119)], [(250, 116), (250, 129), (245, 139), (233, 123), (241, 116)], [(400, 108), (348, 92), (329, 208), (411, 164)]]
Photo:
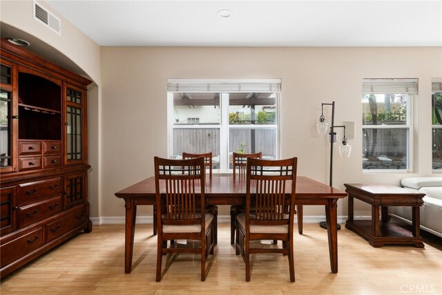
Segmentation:
[[(100, 46), (442, 46), (442, 0), (47, 0), (43, 6)], [(231, 17), (218, 17), (222, 9)]]

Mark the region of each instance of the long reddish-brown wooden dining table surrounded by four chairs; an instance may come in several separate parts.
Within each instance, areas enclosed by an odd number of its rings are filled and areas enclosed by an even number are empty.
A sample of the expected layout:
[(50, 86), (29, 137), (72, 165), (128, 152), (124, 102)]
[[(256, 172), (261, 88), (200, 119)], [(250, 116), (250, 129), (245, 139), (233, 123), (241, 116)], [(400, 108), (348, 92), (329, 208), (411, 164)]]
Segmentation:
[[(291, 186), (288, 182), (287, 186)], [(287, 187), (286, 191), (291, 191)], [(233, 180), (232, 175), (216, 175), (206, 178), (205, 194), (209, 205), (244, 204), (246, 199), (246, 182), (244, 178)], [(115, 193), (117, 198), (124, 199), (126, 208), (126, 235), (124, 247), (124, 272), (132, 271), (133, 240), (135, 234), (135, 220), (137, 206), (155, 204), (155, 177), (146, 178), (136, 184)], [(296, 177), (296, 198), (298, 208), (298, 223), (302, 225), (303, 205), (325, 206), (327, 234), (329, 242), (330, 267), (333, 273), (338, 272), (338, 229), (337, 229), (337, 202), (345, 198), (347, 193), (329, 187), (305, 176)], [(302, 229), (300, 230), (302, 234)]]

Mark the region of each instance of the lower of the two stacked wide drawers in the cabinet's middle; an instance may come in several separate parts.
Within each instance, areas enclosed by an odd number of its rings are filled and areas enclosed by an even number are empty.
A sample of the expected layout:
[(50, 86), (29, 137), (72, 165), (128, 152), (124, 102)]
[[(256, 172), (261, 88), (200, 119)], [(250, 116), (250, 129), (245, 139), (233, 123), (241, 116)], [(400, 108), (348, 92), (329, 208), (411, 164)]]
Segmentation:
[(19, 207), (20, 227), (61, 212), (61, 196)]

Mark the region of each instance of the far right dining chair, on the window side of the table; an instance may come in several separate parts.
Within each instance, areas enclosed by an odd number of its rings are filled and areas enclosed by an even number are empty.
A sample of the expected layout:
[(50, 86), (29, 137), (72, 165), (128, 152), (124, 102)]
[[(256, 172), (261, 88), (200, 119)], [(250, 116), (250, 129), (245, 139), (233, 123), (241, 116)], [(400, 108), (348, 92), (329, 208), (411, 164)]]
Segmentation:
[[(232, 154), (232, 168), (233, 181), (238, 178), (245, 180), (247, 171), (247, 158), (262, 158), (262, 153), (233, 153)], [(230, 245), (235, 245), (235, 229), (236, 216), (244, 211), (242, 205), (231, 205), (230, 207)]]

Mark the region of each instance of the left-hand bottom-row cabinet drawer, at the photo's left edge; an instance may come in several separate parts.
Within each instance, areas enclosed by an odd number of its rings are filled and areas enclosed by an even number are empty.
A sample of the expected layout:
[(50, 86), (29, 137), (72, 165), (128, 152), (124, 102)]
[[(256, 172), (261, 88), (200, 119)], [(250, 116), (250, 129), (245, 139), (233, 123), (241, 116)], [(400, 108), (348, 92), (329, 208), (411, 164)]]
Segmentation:
[(5, 242), (0, 247), (1, 268), (14, 260), (25, 256), (43, 245), (43, 228), (39, 227), (26, 235), (17, 235), (17, 238)]

